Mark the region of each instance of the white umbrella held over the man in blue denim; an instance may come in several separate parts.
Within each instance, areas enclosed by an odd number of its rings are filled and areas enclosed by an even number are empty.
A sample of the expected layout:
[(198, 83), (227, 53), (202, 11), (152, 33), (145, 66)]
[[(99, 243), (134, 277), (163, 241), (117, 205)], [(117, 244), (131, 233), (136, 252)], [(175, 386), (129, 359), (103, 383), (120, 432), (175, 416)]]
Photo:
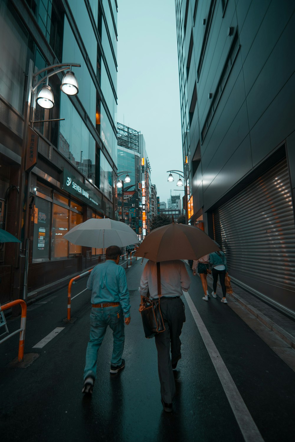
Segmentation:
[(90, 218), (64, 235), (73, 244), (85, 247), (124, 247), (138, 243), (138, 236), (129, 225), (110, 218)]

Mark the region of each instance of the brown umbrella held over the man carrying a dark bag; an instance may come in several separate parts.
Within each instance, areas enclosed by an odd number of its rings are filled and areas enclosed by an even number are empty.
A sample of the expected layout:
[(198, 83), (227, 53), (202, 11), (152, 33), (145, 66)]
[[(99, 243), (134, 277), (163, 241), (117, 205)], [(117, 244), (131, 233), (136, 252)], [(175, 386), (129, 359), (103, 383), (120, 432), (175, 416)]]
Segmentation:
[(215, 241), (198, 227), (187, 224), (168, 224), (154, 229), (142, 241), (135, 256), (143, 256), (156, 263), (172, 259), (199, 259), (220, 250)]

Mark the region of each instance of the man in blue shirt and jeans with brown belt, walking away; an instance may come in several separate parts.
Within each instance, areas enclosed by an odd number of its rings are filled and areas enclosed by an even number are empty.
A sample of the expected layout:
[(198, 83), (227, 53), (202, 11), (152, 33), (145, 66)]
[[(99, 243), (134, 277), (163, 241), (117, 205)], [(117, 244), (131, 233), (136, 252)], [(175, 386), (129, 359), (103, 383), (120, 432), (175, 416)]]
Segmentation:
[(96, 379), (97, 353), (107, 326), (113, 331), (114, 339), (110, 373), (118, 373), (125, 366), (125, 361), (122, 359), (125, 341), (124, 322), (126, 325), (130, 323), (130, 300), (125, 270), (118, 266), (120, 254), (119, 247), (108, 247), (106, 262), (94, 267), (88, 278), (87, 288), (92, 290), (92, 310), (82, 393), (92, 393)]

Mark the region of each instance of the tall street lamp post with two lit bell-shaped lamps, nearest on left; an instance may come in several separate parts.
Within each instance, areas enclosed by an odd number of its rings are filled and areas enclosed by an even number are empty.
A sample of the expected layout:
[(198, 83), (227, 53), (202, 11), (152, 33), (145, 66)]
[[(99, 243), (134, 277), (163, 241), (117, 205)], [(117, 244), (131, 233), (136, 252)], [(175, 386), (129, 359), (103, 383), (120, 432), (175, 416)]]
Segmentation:
[[(37, 160), (29, 167), (27, 167), (27, 158), (29, 152), (28, 148), (28, 135), (29, 135), (29, 127), (31, 130), (34, 128), (34, 114), (36, 103), (43, 107), (44, 109), (51, 109), (54, 107), (54, 95), (53, 92), (48, 85), (48, 80), (51, 76), (56, 75), (60, 72), (67, 71), (63, 77), (61, 82), (61, 91), (67, 95), (76, 95), (79, 91), (78, 82), (76, 77), (72, 72), (72, 66), (76, 66), (80, 68), (80, 64), (77, 63), (59, 63), (56, 65), (47, 66), (44, 69), (39, 70), (38, 72), (34, 72), (34, 62), (30, 60), (29, 63), (29, 71), (27, 76), (27, 89), (26, 89), (26, 98), (25, 98), (25, 106), (24, 106), (24, 124), (23, 124), (23, 149), (22, 149), (22, 157), (20, 170), (22, 172), (22, 177), (19, 182), (19, 202), (18, 202), (18, 231), (21, 236), (21, 230), (23, 225), (23, 247), (22, 251), (25, 252), (25, 269), (23, 273), (23, 299), (27, 298), (27, 273), (28, 273), (28, 257), (29, 257), (29, 237), (30, 234), (27, 232), (29, 225), (29, 210), (25, 210), (23, 214), (23, 201), (25, 201), (26, 208), (32, 207), (32, 201), (30, 203), (30, 198), (32, 193), (31, 189), (31, 170), (36, 164)], [(42, 76), (40, 80), (38, 77), (46, 72), (46, 75)], [(46, 84), (44, 82), (46, 81)], [(43, 84), (43, 85), (42, 85)], [(38, 91), (38, 87), (41, 86), (41, 89)], [(51, 121), (60, 121), (64, 120), (64, 118), (56, 118), (52, 120), (42, 120), (40, 122), (51, 122)], [(35, 133), (35, 137), (38, 138), (38, 135)], [(37, 155), (37, 154), (36, 154)], [(19, 267), (20, 269), (20, 267)], [(19, 271), (19, 276), (21, 271)]]

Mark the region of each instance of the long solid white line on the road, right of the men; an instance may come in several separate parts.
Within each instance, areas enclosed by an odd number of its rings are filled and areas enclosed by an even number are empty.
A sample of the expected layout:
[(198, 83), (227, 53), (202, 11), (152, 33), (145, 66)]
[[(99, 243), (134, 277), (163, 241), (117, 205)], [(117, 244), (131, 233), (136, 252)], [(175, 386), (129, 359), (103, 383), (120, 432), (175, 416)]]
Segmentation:
[(256, 426), (256, 423), (253, 421), (253, 418), (250, 415), (249, 410), (233, 381), (233, 378), (230, 376), (230, 372), (227, 370), (225, 363), (215, 347), (215, 343), (209, 335), (209, 332), (205, 327), (199, 312), (195, 308), (192, 298), (189, 296), (188, 292), (183, 293), (245, 441), (263, 442), (263, 438)]

